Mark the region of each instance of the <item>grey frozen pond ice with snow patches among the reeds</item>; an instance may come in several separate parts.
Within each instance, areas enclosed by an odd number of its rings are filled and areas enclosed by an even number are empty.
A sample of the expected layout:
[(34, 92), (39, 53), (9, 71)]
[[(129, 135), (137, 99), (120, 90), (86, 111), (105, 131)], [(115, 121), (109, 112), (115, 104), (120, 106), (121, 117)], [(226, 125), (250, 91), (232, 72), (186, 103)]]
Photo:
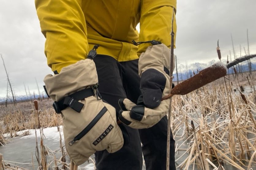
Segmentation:
[[(62, 127), (60, 127), (62, 128)], [(33, 160), (34, 160), (34, 167), (35, 169), (38, 168), (38, 163), (36, 160), (36, 136), (35, 136), (35, 130), (30, 130), (31, 135), (28, 136), (23, 136), (23, 137), (15, 137), (12, 138), (12, 141), (6, 144), (4, 147), (0, 148), (0, 153), (3, 154), (4, 160), (6, 163), (11, 163), (17, 166), (20, 166), (22, 168), (27, 168), (27, 169), (33, 169), (33, 164), (32, 164), (32, 154), (33, 154)], [(37, 132), (37, 140), (38, 140), (38, 147), (40, 148), (40, 131), (39, 129), (36, 130)], [(21, 132), (18, 132), (17, 134), (21, 134)], [(55, 151), (54, 154), (57, 159), (61, 157), (61, 152), (60, 152), (60, 135), (57, 130), (57, 127), (52, 127), (52, 128), (45, 128), (43, 129), (44, 133), (44, 138), (43, 138), (43, 143), (47, 148), (49, 148), (50, 151)], [(62, 140), (63, 140), (63, 133), (62, 135)], [(176, 139), (176, 143), (180, 145), (184, 141), (178, 141)], [(63, 141), (62, 141), (63, 143)], [(186, 148), (184, 148), (186, 149)], [(175, 154), (176, 158), (180, 157), (184, 152), (179, 151)], [(92, 159), (93, 159), (92, 155)], [(47, 156), (47, 162), (53, 161), (54, 157), (49, 155)], [(66, 157), (67, 162), (69, 162), (68, 157)], [(13, 161), (13, 162), (11, 162)], [(178, 164), (183, 162), (184, 159), (180, 159), (177, 161)], [(19, 162), (19, 163), (14, 163), (14, 162)], [(22, 164), (20, 164), (22, 163)], [(54, 163), (51, 164), (54, 166)], [(177, 166), (177, 165), (176, 165)], [(80, 169), (82, 170), (94, 170), (94, 164), (91, 160), (89, 162), (85, 162), (83, 165), (79, 166)], [(237, 168), (233, 168), (231, 166), (224, 166), (225, 170), (237, 170)], [(256, 167), (254, 167), (256, 168)], [(51, 168), (54, 169), (54, 168)], [(192, 168), (190, 168), (192, 170)], [(145, 165), (143, 166), (143, 170), (145, 170)], [(179, 170), (179, 169), (177, 169)], [(197, 170), (195, 166), (195, 170)]]

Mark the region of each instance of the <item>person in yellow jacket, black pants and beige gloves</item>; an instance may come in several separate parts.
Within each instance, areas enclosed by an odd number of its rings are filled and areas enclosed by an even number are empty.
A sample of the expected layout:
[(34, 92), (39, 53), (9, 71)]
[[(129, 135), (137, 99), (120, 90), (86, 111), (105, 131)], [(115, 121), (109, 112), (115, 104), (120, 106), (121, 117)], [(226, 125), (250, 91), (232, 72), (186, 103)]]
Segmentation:
[[(44, 82), (62, 113), (74, 163), (95, 153), (98, 170), (141, 170), (143, 153), (147, 170), (166, 169), (169, 100), (160, 98), (169, 92), (170, 64), (162, 62), (170, 55), (173, 16), (176, 36), (176, 0), (35, 0), (35, 6), (55, 74)], [(158, 100), (149, 101), (152, 95)], [(173, 170), (172, 134), (170, 150)]]

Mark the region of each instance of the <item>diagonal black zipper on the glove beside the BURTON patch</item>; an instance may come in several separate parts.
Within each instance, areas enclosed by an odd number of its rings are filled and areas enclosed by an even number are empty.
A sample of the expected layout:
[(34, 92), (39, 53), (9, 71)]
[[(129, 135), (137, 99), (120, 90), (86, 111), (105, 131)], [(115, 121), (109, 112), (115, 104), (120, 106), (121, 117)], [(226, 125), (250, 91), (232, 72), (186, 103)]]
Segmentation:
[(84, 137), (94, 125), (100, 120), (100, 118), (107, 112), (107, 108), (103, 107), (100, 112), (97, 114), (97, 116), (89, 123), (88, 126), (86, 126), (76, 137), (74, 137), (73, 140), (69, 142), (69, 145), (72, 146), (77, 140), (80, 140), (82, 137)]

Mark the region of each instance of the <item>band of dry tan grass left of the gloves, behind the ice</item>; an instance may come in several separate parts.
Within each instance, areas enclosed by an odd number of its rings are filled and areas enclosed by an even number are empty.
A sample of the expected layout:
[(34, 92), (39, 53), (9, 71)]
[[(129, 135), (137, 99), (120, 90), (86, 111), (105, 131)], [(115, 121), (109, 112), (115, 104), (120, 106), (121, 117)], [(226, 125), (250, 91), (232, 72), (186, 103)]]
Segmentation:
[[(52, 108), (51, 99), (45, 99), (39, 102), (39, 119), (41, 127), (53, 127), (62, 124), (60, 114), (56, 114)], [(17, 103), (17, 106), (9, 105), (2, 107), (0, 112), (0, 122), (3, 133), (14, 134), (17, 131), (25, 129), (38, 128), (37, 112), (33, 102)]]

